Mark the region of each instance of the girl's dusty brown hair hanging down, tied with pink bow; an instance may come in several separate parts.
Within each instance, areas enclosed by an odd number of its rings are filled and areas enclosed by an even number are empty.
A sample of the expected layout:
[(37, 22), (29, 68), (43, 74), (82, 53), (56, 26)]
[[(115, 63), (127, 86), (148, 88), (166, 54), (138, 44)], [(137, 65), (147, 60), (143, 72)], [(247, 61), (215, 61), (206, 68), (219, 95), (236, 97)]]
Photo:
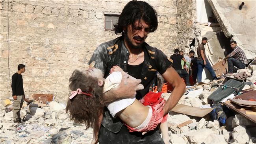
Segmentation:
[(92, 96), (77, 94), (71, 100), (68, 99), (66, 112), (69, 111), (70, 119), (74, 122), (85, 123), (86, 129), (93, 127), (93, 124), (99, 120), (100, 110), (104, 107), (103, 86), (98, 86), (97, 78), (79, 70), (74, 70), (69, 82), (70, 90), (76, 91), (80, 88), (82, 92), (92, 94)]

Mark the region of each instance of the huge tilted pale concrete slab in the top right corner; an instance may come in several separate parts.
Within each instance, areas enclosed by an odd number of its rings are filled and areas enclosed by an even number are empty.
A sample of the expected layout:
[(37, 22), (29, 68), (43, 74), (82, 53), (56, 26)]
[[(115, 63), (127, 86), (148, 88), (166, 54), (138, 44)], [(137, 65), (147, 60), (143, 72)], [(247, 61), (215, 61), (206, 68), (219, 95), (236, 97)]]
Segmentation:
[[(247, 59), (255, 57), (255, 9), (256, 2), (246, 1), (239, 9), (241, 1), (208, 0), (226, 37), (232, 37), (244, 50)], [(225, 10), (223, 10), (225, 9)]]

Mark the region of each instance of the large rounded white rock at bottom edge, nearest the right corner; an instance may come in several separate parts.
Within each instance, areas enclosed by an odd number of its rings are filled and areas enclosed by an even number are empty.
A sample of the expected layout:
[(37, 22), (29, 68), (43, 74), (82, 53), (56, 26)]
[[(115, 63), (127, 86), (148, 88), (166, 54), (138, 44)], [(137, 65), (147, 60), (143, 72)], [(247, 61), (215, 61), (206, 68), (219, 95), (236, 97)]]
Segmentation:
[(245, 128), (245, 126), (239, 125), (233, 129), (232, 137), (234, 142), (239, 144), (245, 144), (250, 140), (250, 132)]

